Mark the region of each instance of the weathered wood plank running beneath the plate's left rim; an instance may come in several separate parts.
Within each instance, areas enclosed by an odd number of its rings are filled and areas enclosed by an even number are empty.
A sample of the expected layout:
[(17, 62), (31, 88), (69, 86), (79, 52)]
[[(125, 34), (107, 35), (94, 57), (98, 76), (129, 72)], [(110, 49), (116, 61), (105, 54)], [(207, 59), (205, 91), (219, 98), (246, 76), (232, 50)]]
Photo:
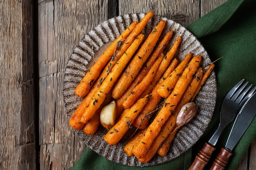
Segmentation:
[(41, 169), (70, 169), (86, 148), (65, 114), (63, 74), (79, 40), (107, 20), (107, 2), (47, 0), (38, 3)]

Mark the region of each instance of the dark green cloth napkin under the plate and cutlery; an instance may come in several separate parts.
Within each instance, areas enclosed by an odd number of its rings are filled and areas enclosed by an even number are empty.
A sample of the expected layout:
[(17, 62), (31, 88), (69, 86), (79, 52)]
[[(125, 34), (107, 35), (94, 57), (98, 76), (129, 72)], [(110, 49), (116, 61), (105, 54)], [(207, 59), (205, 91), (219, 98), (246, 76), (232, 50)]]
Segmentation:
[[(150, 167), (130, 167), (109, 161), (87, 148), (81, 159), (74, 165), (73, 170), (187, 170), (198, 151), (207, 142), (218, 127), (220, 106), (227, 92), (245, 78), (256, 85), (256, 1), (229, 0), (207, 15), (193, 22), (187, 27), (207, 50), (212, 61), (223, 57), (215, 64), (217, 79), (217, 103), (211, 123), (200, 140), (180, 157)], [(221, 147), (225, 146), (231, 129), (229, 125), (216, 145), (214, 158)], [(245, 154), (249, 145), (256, 137), (256, 118), (240, 139), (233, 156), (226, 167), (234, 170)], [(212, 160), (205, 169), (209, 169)]]

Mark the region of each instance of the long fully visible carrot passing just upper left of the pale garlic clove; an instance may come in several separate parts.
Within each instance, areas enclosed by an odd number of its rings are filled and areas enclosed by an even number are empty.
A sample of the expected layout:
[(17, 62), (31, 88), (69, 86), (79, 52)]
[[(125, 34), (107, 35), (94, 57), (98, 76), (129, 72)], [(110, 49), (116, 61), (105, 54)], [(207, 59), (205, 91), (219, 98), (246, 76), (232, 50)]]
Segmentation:
[(130, 58), (132, 58), (133, 54), (138, 49), (143, 39), (144, 35), (139, 34), (139, 36), (132, 42), (130, 47), (126, 50), (125, 54), (123, 54), (123, 56), (121, 56), (121, 58), (118, 60), (118, 64), (116, 64), (113, 67), (112, 72), (110, 72), (108, 76), (105, 78), (105, 80), (102, 82), (99, 89), (97, 89), (94, 96), (92, 97), (88, 107), (86, 107), (83, 116), (81, 117), (82, 123), (87, 123), (88, 120), (92, 118), (96, 110), (99, 109), (99, 107), (104, 101), (104, 98), (106, 97), (106, 94), (110, 92), (115, 82), (117, 81), (117, 78), (123, 72)]

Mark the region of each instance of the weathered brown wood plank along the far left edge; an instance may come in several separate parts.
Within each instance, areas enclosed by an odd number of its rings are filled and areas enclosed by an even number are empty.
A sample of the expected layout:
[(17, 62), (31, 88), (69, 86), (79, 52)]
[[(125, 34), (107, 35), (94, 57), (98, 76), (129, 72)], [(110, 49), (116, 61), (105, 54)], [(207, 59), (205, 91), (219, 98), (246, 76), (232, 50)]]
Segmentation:
[(0, 1), (0, 169), (36, 169), (33, 1)]

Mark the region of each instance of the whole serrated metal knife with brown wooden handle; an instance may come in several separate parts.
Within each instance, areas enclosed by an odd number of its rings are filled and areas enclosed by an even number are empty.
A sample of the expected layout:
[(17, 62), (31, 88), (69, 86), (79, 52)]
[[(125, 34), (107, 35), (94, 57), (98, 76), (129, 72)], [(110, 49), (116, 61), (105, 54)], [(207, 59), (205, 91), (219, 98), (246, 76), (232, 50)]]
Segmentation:
[[(256, 93), (254, 93), (256, 94)], [(236, 120), (233, 124), (225, 148), (221, 148), (220, 153), (213, 161), (213, 165), (210, 170), (224, 170), (229, 158), (233, 155), (232, 150), (241, 139), (245, 130), (252, 123), (256, 115), (256, 95), (252, 94), (250, 98), (242, 106)]]

